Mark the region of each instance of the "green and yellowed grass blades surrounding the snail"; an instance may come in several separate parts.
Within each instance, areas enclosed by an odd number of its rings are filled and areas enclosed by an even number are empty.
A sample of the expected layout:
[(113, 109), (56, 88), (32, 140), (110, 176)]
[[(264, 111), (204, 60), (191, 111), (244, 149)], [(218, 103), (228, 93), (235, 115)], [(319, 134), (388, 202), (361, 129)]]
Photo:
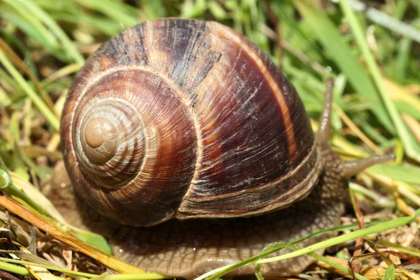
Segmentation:
[[(384, 213), (391, 220), (367, 223), (359, 230), (356, 225), (331, 229), (345, 234), (311, 248), (274, 244), (262, 255), (244, 263), (276, 261), (265, 259), (264, 255), (286, 246), (296, 250), (290, 253), (292, 255), (308, 253), (326, 262), (330, 269), (338, 269), (349, 276), (351, 272), (346, 267), (316, 255), (314, 250), (344, 244), (336, 253), (350, 259), (354, 246), (350, 241), (368, 234), (377, 236), (377, 244), (385, 248), (404, 251), (407, 255), (400, 255), (402, 260), (419, 258), (419, 250), (414, 245), (402, 249), (400, 244), (389, 241), (395, 240), (393, 237), (400, 232), (406, 232), (410, 225), (419, 227), (415, 220), (419, 212), (416, 209), (420, 207), (419, 0), (370, 1), (368, 6), (357, 0), (340, 3), (309, 0), (130, 2), (135, 4), (111, 0), (0, 1), (0, 185), (13, 201), (18, 202), (17, 205), (24, 205), (34, 213), (32, 218), (27, 218), (29, 223), (39, 225), (45, 231), (41, 221), (47, 221), (54, 225), (49, 232), (52, 236), (71, 234), (103, 251), (109, 250), (102, 237), (54, 222), (60, 221), (54, 207), (48, 202), (40, 203), (42, 192), (51, 185), (53, 167), (62, 158), (57, 132), (66, 92), (85, 58), (100, 43), (126, 27), (161, 17), (201, 18), (232, 27), (269, 53), (295, 85), (314, 120), (322, 108), (325, 78), (335, 76), (331, 143), (343, 158), (390, 152), (397, 156), (395, 163), (371, 167), (351, 183), (359, 204), (372, 212), (365, 214), (366, 220)], [(313, 123), (316, 127), (316, 121)], [(355, 211), (358, 211), (357, 207)], [(31, 227), (20, 218), (7, 217), (6, 212), (1, 211), (3, 225), (0, 229), (6, 239), (3, 248), (10, 246), (10, 232), (15, 234), (19, 244), (31, 247), (34, 239), (26, 238), (25, 233), (16, 233), (18, 227), (23, 226), (28, 237), (45, 237), (43, 232), (29, 230)], [(355, 221), (344, 218), (346, 220), (348, 223)], [(388, 239), (382, 240), (380, 236)], [(411, 237), (419, 238), (415, 233), (407, 235), (407, 238)], [(6, 255), (8, 258), (0, 259), (0, 269), (6, 276), (10, 273), (28, 277), (36, 274), (31, 269), (34, 263), (25, 263), (25, 258), (12, 260), (10, 254)], [(288, 255), (280, 258), (288, 258)], [(380, 252), (364, 262), (369, 265), (368, 261), (373, 263), (374, 258), (384, 260), (382, 266), (388, 279), (400, 274), (418, 279), (415, 271), (409, 272), (393, 260), (389, 262)], [(41, 262), (39, 258), (32, 260), (30, 262), (38, 265)], [(8, 263), (11, 261), (15, 264)], [(102, 263), (106, 264), (106, 261)], [(76, 276), (52, 263), (46, 267), (62, 273), (56, 275)], [(223, 276), (228, 271), (223, 269), (202, 278)], [(161, 277), (130, 274), (134, 272), (130, 268), (124, 270), (125, 274), (99, 276), (102, 271), (102, 265), (97, 262), (92, 273), (83, 276), (109, 279)], [(258, 271), (256, 276), (260, 278)], [(360, 274), (354, 276), (365, 279)], [(41, 279), (49, 277), (43, 272)]]

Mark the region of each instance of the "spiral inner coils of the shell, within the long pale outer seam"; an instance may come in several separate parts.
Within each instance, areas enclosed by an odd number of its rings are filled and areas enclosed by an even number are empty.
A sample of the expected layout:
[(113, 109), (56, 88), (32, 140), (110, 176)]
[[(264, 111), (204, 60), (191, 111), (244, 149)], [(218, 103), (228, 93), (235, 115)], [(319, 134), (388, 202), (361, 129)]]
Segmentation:
[[(195, 128), (183, 99), (165, 78), (141, 67), (116, 67), (92, 80), (71, 120), (78, 190), (124, 223), (170, 218), (196, 160)], [(167, 186), (172, 192), (162, 193)], [(139, 217), (147, 211), (152, 214)]]

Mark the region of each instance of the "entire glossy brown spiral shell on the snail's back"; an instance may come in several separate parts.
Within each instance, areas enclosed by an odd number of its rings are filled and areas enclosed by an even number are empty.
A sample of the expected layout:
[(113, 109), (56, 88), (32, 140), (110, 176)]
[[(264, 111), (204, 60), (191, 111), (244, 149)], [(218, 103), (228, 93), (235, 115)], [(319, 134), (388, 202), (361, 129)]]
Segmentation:
[(88, 59), (64, 108), (73, 184), (94, 209), (128, 225), (288, 207), (321, 171), (293, 86), (253, 43), (216, 22), (126, 29)]

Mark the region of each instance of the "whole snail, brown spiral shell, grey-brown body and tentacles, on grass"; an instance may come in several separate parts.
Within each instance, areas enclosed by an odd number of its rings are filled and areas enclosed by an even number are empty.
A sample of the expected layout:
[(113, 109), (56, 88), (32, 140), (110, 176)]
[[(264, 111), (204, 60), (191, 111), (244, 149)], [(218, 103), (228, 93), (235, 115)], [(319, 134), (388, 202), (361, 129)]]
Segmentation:
[[(67, 190), (59, 209), (108, 237), (120, 258), (186, 278), (335, 227), (347, 179), (389, 157), (344, 162), (332, 152), (331, 91), (315, 135), (286, 76), (229, 27), (167, 18), (125, 29), (69, 90), (60, 134), (78, 195)], [(261, 272), (297, 274), (311, 262)]]

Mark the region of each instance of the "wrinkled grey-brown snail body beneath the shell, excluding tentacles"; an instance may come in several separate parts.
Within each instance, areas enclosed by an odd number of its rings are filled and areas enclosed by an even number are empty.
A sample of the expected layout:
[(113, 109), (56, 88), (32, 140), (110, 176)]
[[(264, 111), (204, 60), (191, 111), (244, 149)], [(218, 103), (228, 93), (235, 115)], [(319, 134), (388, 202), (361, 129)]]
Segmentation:
[[(344, 213), (346, 181), (342, 179), (342, 160), (325, 151), (327, 174), (320, 177), (314, 191), (304, 200), (271, 214), (251, 218), (172, 219), (152, 228), (137, 228), (110, 223), (73, 193), (63, 180), (49, 196), (66, 221), (97, 232), (109, 239), (114, 255), (150, 272), (191, 279), (211, 269), (232, 264), (260, 253), (276, 241), (293, 241), (340, 224)], [(56, 172), (65, 174), (62, 168)], [(64, 181), (67, 181), (64, 179)], [(301, 241), (309, 246), (328, 239), (333, 233)], [(281, 255), (282, 249), (270, 256)], [(322, 253), (322, 252), (319, 252)], [(262, 265), (264, 276), (287, 276), (302, 272), (314, 262), (307, 255)], [(247, 265), (230, 275), (253, 274)]]

